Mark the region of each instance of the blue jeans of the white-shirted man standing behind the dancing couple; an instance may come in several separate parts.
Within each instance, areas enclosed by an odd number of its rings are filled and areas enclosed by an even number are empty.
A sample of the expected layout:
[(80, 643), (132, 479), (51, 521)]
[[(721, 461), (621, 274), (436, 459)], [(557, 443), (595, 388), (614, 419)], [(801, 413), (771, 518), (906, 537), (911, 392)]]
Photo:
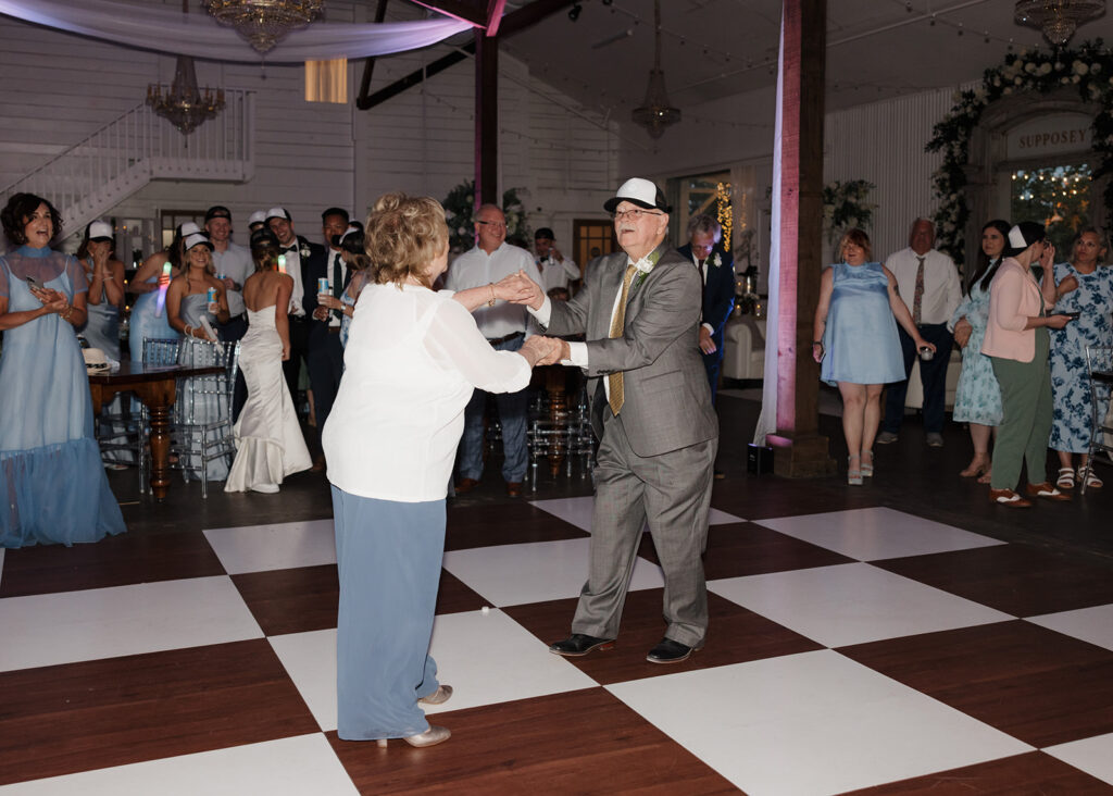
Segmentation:
[[(523, 337), (515, 337), (492, 346), (495, 351), (518, 351)], [(472, 393), (464, 409), (464, 436), (460, 441), (460, 478), (476, 481), (483, 475), (483, 413), (487, 394), (482, 390)], [(502, 423), (502, 476), (509, 482), (525, 479), (529, 453), (525, 446), (525, 425), (529, 420), (530, 399), (525, 390), (516, 393), (495, 394), (499, 421)]]

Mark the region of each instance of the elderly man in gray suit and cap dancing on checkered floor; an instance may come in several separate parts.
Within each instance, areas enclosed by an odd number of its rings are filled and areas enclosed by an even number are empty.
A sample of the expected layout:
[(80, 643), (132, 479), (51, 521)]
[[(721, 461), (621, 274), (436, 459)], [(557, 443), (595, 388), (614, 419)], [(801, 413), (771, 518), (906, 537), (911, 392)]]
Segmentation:
[(670, 207), (648, 179), (622, 184), (604, 208), (622, 252), (599, 259), (570, 302), (540, 287), (530, 312), (563, 343), (564, 364), (587, 370), (600, 440), (588, 582), (567, 657), (613, 646), (644, 523), (664, 570), (664, 638), (649, 651), (673, 664), (703, 646), (707, 539), (719, 424), (699, 353), (701, 287), (691, 263), (664, 243)]

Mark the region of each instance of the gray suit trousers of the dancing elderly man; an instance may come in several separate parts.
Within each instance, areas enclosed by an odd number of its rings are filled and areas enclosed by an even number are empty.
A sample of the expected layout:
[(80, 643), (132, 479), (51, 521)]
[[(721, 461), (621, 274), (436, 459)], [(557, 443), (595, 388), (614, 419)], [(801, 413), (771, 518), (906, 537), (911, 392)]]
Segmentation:
[(649, 521), (664, 571), (666, 638), (699, 647), (707, 630), (707, 584), (701, 554), (718, 438), (656, 456), (639, 456), (621, 414), (603, 411), (595, 466), (595, 507), (588, 582), (572, 632), (617, 638), (642, 528)]

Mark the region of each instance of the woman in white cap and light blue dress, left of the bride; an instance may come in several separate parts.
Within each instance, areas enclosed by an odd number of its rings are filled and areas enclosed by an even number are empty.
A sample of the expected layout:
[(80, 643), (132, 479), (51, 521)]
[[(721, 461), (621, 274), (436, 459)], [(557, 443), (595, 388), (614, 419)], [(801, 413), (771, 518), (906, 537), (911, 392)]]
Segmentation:
[[(224, 283), (216, 278), (213, 269), (213, 244), (201, 234), (193, 234), (183, 243), (185, 267), (180, 276), (174, 278), (166, 292), (166, 315), (170, 327), (184, 335), (178, 350), (178, 362), (186, 365), (211, 365), (217, 361), (216, 346), (206, 334), (201, 318), (208, 321), (214, 332), (217, 323), (228, 323), (228, 299)], [(209, 301), (209, 291), (215, 301)], [(233, 345), (233, 344), (229, 344)], [(216, 380), (210, 376), (194, 376), (179, 380), (178, 400), (175, 403), (179, 422), (197, 424), (224, 420), (230, 414), (228, 402), (213, 394)], [(191, 416), (185, 416), (188, 413)], [(208, 432), (210, 435), (219, 432)], [(191, 445), (196, 448), (196, 445)], [(220, 455), (208, 462), (205, 475), (209, 481), (228, 478), (229, 456)], [(201, 479), (199, 458), (190, 455), (183, 462), (186, 478)]]

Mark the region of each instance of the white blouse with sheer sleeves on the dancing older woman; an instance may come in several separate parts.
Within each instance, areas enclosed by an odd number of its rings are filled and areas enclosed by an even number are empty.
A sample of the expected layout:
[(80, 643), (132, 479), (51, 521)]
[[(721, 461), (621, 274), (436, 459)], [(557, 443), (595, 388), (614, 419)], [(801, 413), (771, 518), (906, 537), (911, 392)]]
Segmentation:
[(492, 348), (450, 292), (368, 285), (321, 434), (328, 480), (363, 498), (441, 500), (472, 389), (515, 392), (529, 383), (525, 357)]

